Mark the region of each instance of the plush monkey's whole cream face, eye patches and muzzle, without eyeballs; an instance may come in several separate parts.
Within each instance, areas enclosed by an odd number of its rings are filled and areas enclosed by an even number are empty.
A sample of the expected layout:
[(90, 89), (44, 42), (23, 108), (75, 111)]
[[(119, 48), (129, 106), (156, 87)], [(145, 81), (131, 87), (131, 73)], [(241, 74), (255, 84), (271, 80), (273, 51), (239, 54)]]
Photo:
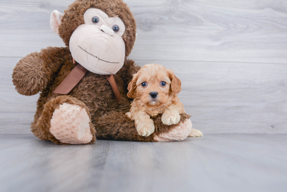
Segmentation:
[[(98, 18), (98, 23), (93, 23), (93, 17)], [(124, 64), (124, 23), (93, 8), (84, 13), (84, 20), (85, 24), (78, 26), (70, 38), (72, 57), (90, 72), (116, 74)], [(112, 29), (115, 25), (119, 28), (117, 32)]]

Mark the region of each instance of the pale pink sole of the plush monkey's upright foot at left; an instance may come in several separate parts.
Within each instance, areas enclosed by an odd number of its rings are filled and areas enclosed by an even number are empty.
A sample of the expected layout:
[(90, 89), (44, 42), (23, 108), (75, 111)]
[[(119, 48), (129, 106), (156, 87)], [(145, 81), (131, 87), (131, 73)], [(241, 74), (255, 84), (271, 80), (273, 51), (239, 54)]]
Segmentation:
[(93, 138), (89, 115), (78, 105), (60, 105), (55, 109), (50, 125), (50, 132), (62, 143), (85, 144)]

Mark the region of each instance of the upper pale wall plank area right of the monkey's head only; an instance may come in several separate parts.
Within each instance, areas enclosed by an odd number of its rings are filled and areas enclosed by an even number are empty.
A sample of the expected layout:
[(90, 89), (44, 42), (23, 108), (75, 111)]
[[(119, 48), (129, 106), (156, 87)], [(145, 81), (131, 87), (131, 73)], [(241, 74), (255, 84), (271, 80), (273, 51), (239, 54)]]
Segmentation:
[(134, 59), (286, 63), (286, 1), (129, 5), (140, 29)]

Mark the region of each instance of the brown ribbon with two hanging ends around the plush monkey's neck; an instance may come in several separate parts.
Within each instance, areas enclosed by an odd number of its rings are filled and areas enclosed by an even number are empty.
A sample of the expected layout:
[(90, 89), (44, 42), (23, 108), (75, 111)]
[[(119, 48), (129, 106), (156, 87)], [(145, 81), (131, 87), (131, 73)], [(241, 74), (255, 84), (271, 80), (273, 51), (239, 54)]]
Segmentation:
[[(76, 64), (77, 62), (73, 58), (73, 63)], [(70, 72), (70, 74), (62, 81), (62, 83), (53, 91), (53, 93), (58, 94), (68, 94), (75, 86), (78, 84), (79, 81), (84, 77), (87, 73), (87, 69), (83, 67), (81, 64), (77, 63), (76, 67)], [(114, 76), (105, 75), (105, 78), (109, 81), (112, 86), (112, 90), (117, 98), (117, 101), (121, 102), (121, 95), (119, 94), (119, 89), (117, 87), (116, 81)]]

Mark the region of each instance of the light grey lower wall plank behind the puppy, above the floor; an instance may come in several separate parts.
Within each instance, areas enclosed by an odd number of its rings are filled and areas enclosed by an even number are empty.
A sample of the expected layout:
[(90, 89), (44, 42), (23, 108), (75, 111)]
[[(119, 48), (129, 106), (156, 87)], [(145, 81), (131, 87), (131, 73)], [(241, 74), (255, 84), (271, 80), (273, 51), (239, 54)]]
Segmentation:
[[(14, 90), (20, 58), (0, 58), (1, 132), (29, 132), (38, 95)], [(180, 101), (194, 128), (205, 133), (287, 133), (285, 64), (136, 60), (172, 68), (182, 81)]]

